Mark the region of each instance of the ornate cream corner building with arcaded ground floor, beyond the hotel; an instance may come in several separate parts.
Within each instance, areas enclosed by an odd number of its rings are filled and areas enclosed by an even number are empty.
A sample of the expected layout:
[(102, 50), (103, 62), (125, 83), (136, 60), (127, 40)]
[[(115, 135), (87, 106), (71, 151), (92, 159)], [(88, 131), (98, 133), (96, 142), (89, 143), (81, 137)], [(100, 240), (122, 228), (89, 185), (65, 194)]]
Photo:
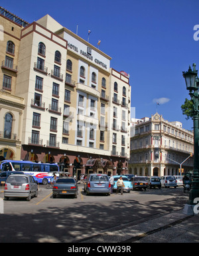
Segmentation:
[(180, 164), (181, 173), (190, 172), (193, 168), (193, 136), (193, 132), (182, 128), (182, 123), (168, 122), (158, 113), (151, 118), (133, 120), (130, 172), (141, 176), (178, 175)]

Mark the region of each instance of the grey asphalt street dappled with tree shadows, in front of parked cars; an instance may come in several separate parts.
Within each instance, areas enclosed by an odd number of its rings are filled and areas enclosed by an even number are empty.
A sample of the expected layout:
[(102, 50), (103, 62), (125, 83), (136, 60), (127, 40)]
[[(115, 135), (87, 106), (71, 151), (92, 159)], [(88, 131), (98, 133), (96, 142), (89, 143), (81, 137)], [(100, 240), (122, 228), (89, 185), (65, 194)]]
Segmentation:
[[(178, 211), (188, 201), (182, 187), (131, 191), (123, 195), (79, 195), (52, 198), (52, 190), (39, 185), (38, 197), (3, 201), (0, 242), (86, 241), (103, 231), (125, 229), (146, 219)], [(0, 196), (3, 198), (1, 187)]]

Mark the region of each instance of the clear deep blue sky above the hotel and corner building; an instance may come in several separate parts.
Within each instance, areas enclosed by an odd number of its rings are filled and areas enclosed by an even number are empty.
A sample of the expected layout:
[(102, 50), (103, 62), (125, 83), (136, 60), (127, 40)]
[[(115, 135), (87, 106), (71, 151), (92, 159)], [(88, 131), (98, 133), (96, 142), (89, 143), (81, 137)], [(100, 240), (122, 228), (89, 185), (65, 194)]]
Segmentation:
[(135, 118), (159, 112), (192, 130), (193, 121), (181, 110), (190, 99), (182, 71), (193, 63), (199, 69), (198, 0), (1, 0), (0, 5), (29, 23), (48, 14), (86, 41), (90, 30), (89, 43), (98, 47), (100, 40), (111, 67), (130, 75)]

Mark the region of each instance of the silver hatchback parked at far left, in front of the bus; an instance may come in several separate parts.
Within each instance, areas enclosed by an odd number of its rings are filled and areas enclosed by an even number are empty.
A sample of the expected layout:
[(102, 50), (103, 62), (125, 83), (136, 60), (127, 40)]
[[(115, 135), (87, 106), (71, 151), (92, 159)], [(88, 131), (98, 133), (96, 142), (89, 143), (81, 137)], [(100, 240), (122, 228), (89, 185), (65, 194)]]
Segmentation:
[(26, 197), (27, 201), (31, 197), (38, 195), (37, 182), (34, 181), (33, 176), (27, 174), (13, 174), (7, 178), (4, 188), (4, 199), (9, 197)]

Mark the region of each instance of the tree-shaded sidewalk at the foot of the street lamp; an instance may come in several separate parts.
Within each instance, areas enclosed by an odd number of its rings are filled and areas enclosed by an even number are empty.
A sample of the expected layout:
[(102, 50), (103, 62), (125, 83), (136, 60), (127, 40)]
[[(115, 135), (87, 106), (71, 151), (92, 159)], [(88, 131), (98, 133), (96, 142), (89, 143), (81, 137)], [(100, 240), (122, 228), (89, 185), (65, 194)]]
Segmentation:
[(183, 210), (120, 230), (107, 230), (80, 243), (198, 243), (199, 215)]

